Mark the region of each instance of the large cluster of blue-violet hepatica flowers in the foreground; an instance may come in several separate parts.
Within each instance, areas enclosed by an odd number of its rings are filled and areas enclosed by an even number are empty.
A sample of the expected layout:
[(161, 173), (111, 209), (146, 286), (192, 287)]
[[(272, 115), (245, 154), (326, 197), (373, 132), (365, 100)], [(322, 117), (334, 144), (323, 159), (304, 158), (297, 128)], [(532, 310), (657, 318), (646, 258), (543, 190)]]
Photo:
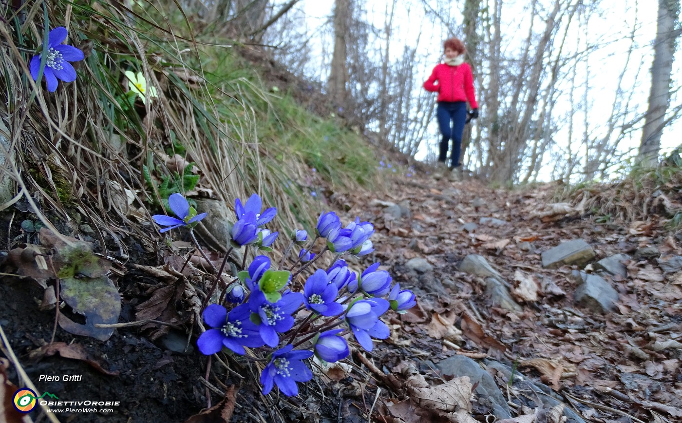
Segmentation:
[[(162, 232), (177, 227), (191, 230), (206, 216), (197, 214), (181, 194), (172, 194), (168, 204), (178, 218), (153, 216), (157, 224), (165, 226)], [(235, 201), (233, 247), (253, 245), (271, 251), (278, 233), (271, 233), (263, 225), (276, 216), (277, 210), (271, 207), (261, 212), (261, 208), (256, 194), (244, 205), (239, 199)], [(372, 351), (372, 338), (389, 336), (389, 327), (381, 316), (389, 309), (406, 312), (416, 304), (414, 293), (401, 290), (399, 284), (391, 285), (391, 276), (379, 269), (379, 263), (358, 275), (342, 259), (344, 254), (361, 256), (371, 252), (372, 233), (374, 226), (359, 218), (342, 227), (333, 212), (319, 216), (312, 241), (306, 231), (294, 231), (289, 248), (298, 245), (301, 252), (296, 263), (300, 268), (293, 276), (327, 250), (337, 255), (329, 269), (317, 269), (306, 278), (303, 292), (288, 288), (291, 271), (274, 269), (268, 257), (256, 256), (228, 287), (225, 305), (210, 304), (205, 308), (203, 318), (211, 328), (199, 336), (199, 350), (210, 355), (226, 348), (244, 355), (248, 347), (267, 353), (268, 364), (261, 373), (263, 394), (277, 385), (287, 396), (298, 394), (297, 382), (312, 379), (303, 360), (316, 355), (325, 362), (337, 362), (349, 355), (344, 335), (352, 333), (362, 348)], [(327, 246), (315, 254), (310, 250), (318, 238), (326, 239)], [(297, 313), (304, 309), (308, 310), (306, 316), (297, 319)]]

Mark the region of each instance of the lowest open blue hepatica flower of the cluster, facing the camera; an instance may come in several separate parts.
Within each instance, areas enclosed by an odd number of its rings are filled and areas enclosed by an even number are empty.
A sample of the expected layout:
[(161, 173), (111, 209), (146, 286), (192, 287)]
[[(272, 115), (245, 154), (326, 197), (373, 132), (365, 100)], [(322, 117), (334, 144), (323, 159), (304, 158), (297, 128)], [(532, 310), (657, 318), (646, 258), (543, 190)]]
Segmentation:
[(307, 382), (312, 379), (312, 372), (301, 361), (310, 358), (312, 351), (300, 349), (291, 351), (292, 349), (293, 345), (290, 344), (272, 353), (272, 359), (261, 373), (263, 395), (269, 394), (273, 383), (276, 383), (282, 394), (297, 396), (296, 382)]

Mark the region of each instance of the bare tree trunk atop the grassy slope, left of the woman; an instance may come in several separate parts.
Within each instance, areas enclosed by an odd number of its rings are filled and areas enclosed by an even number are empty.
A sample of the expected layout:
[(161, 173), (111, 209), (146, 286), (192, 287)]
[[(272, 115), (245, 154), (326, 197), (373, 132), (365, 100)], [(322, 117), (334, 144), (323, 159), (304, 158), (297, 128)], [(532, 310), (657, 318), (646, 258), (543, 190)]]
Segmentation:
[(348, 100), (346, 83), (349, 81), (349, 71), (346, 63), (348, 48), (346, 37), (349, 35), (351, 7), (351, 0), (336, 0), (334, 2), (334, 51), (331, 57), (327, 89), (332, 104), (340, 107), (346, 106)]

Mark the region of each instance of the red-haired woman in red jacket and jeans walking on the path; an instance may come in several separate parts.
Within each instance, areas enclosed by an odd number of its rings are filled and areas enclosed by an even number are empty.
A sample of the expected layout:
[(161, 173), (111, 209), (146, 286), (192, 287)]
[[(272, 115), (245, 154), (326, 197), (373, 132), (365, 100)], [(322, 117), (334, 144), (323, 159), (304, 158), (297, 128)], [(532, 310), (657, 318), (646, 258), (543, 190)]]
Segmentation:
[[(478, 117), (478, 104), (473, 90), (473, 75), (468, 63), (464, 63), (466, 48), (458, 38), (449, 38), (443, 43), (445, 48), (444, 63), (433, 68), (431, 76), (424, 83), (428, 91), (438, 93), (438, 125), (441, 128), (441, 149), (438, 157), (439, 169), (436, 170), (436, 178), (443, 177), (447, 147), (452, 139), (452, 151), (450, 162), (452, 169), (451, 180), (459, 180), (460, 173), (460, 149), (462, 148), (462, 132), (466, 123), (466, 102), (469, 102), (472, 110), (469, 113), (471, 119)], [(437, 83), (436, 83), (437, 81)]]

